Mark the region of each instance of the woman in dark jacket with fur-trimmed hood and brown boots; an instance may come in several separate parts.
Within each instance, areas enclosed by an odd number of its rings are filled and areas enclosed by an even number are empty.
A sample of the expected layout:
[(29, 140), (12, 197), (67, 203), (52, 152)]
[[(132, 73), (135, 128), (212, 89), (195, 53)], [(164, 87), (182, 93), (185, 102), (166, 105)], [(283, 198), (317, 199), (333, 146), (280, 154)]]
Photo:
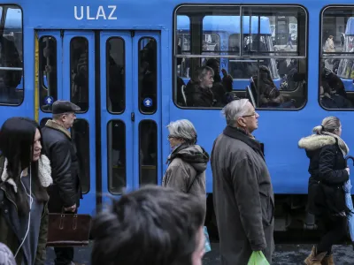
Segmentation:
[(332, 246), (345, 238), (350, 215), (343, 190), (350, 175), (344, 158), (349, 148), (341, 138), (342, 125), (338, 117), (324, 118), (312, 132), (314, 134), (301, 139), (298, 145), (310, 158), (308, 210), (324, 230), (319, 244), (312, 247), (312, 253), (304, 262), (308, 265), (335, 264)]

